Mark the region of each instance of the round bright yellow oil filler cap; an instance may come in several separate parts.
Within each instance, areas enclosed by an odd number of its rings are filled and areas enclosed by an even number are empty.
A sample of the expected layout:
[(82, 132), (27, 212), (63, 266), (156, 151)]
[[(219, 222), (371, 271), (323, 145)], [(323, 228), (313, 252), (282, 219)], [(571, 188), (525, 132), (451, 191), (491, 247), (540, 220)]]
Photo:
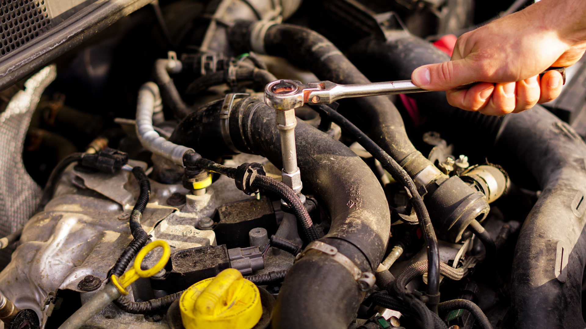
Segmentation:
[(251, 329), (263, 315), (257, 286), (237, 269), (190, 286), (179, 309), (186, 329)]

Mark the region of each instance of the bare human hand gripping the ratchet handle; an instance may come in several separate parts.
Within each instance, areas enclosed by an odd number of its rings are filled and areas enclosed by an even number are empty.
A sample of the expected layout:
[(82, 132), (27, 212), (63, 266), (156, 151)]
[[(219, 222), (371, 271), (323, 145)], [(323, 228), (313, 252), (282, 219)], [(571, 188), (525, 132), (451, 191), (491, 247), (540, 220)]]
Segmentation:
[[(564, 20), (568, 11), (573, 16)], [(421, 66), (411, 78), (421, 88), (446, 90), (452, 106), (486, 115), (521, 112), (554, 100), (563, 84), (561, 74), (548, 71), (540, 78), (539, 73), (550, 66), (571, 66), (584, 54), (585, 12), (586, 1), (541, 0), (465, 33), (451, 61)], [(452, 89), (473, 81), (486, 82)]]

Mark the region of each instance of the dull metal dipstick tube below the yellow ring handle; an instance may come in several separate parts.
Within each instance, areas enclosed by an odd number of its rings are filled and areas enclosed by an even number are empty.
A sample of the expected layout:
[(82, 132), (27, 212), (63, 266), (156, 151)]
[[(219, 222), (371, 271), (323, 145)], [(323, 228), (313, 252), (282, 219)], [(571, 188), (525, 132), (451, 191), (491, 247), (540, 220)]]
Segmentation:
[(83, 304), (79, 310), (73, 313), (65, 322), (60, 325), (59, 329), (78, 329), (87, 320), (103, 310), (106, 305), (119, 298), (122, 294), (118, 291), (113, 283), (108, 283), (103, 290), (91, 297), (87, 303)]

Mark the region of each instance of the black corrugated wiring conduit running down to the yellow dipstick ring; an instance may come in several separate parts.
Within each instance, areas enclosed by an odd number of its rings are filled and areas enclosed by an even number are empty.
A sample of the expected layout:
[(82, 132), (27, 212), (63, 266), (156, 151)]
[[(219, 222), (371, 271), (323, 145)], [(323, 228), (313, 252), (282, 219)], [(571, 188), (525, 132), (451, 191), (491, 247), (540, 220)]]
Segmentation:
[(132, 261), (132, 258), (137, 255), (138, 251), (145, 245), (149, 238), (147, 232), (142, 228), (141, 217), (142, 212), (147, 207), (148, 200), (151, 197), (151, 182), (148, 180), (142, 167), (132, 168), (132, 173), (140, 186), (137, 203), (134, 205), (132, 213), (130, 214), (130, 232), (134, 239), (128, 244), (124, 252), (122, 252), (122, 255), (120, 255), (120, 258), (118, 258), (118, 261), (115, 263), (114, 268), (111, 271), (111, 274), (115, 276), (121, 276), (122, 273), (124, 273), (128, 264)]

